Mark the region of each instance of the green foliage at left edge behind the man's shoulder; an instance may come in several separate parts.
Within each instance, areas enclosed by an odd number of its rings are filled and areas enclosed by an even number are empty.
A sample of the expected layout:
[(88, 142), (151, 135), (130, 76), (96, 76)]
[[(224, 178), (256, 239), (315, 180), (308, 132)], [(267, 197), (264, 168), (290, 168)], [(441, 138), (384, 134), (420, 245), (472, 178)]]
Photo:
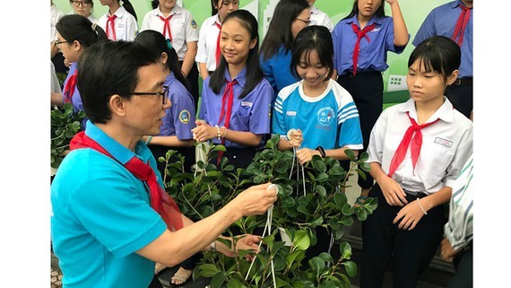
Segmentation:
[(55, 106), (51, 112), (51, 167), (57, 169), (64, 159), (69, 142), (82, 127), (85, 112), (75, 113), (73, 104), (65, 103), (63, 107)]

